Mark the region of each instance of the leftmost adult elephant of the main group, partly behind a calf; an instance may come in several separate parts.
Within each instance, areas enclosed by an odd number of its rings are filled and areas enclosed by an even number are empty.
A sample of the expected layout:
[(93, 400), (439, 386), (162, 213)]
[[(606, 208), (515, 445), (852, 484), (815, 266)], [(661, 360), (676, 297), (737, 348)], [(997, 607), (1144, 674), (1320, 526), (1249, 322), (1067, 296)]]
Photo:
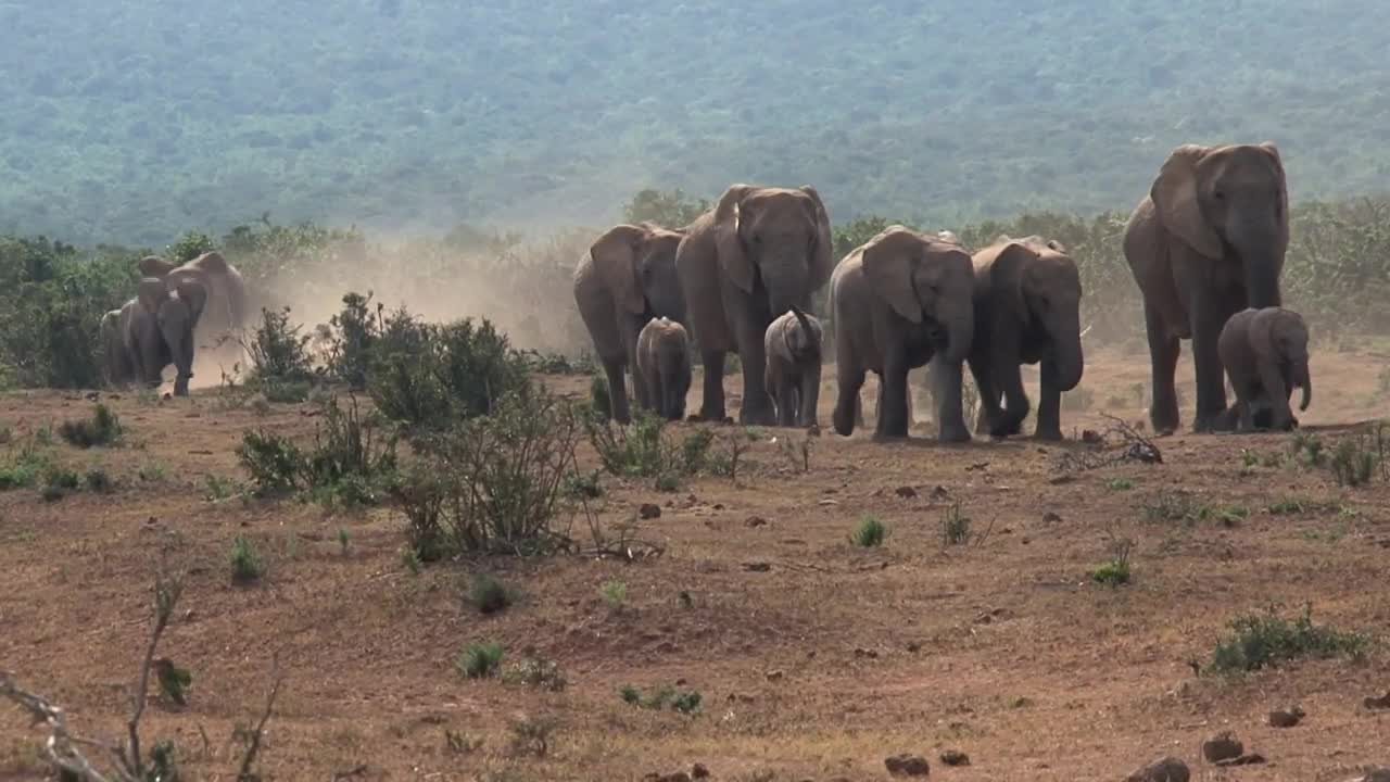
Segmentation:
[(685, 323), (685, 299), (676, 276), (676, 248), (684, 235), (684, 230), (653, 223), (614, 225), (594, 242), (574, 270), (574, 302), (603, 363), (609, 412), (619, 423), (631, 420), (626, 370), (632, 372), (638, 404), (646, 398), (637, 372), (637, 337), (642, 327), (653, 317)]

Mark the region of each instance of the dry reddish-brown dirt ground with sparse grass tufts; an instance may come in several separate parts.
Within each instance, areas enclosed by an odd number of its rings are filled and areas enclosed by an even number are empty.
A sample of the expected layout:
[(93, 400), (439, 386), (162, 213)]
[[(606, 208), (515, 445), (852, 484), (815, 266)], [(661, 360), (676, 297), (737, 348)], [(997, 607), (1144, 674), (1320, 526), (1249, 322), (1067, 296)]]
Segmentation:
[[(1304, 424), (1334, 440), (1383, 416), (1382, 366), (1386, 356), (1365, 346), (1316, 352)], [(1093, 401), (1063, 413), (1069, 431), (1102, 427), (1102, 410), (1143, 417), (1147, 358), (1097, 352), (1086, 372)], [(1190, 416), (1186, 353), (1179, 378)], [(726, 385), (737, 391), (733, 377)], [(827, 391), (823, 426), (833, 402)], [(1340, 488), (1325, 469), (1243, 466), (1243, 449), (1286, 452), (1284, 434), (1182, 434), (1158, 441), (1161, 465), (1062, 479), (1058, 459), (1076, 442), (874, 444), (827, 426), (801, 472), (781, 441), (803, 433), (767, 429), (752, 433), (737, 484), (699, 477), (660, 494), (603, 479), (607, 523), (644, 502), (662, 506), (638, 522), (666, 547), (657, 559), (491, 558), (411, 575), (393, 511), (208, 501), (208, 476), (245, 480), (234, 455), (242, 430), (307, 440), (320, 420), (311, 405), (259, 415), (229, 409), (215, 390), (111, 405), (122, 447), (54, 448), (75, 468), (103, 465), (120, 481), (114, 494), (0, 494), (0, 669), (68, 707), (81, 732), (118, 736), (152, 623), (153, 568), (170, 545), (189, 575), (161, 651), (193, 685), (186, 707), (153, 699), (146, 743), (174, 739), (188, 778), (232, 779), (234, 729), (259, 715), (275, 655), (285, 685), (261, 771), (279, 781), (623, 781), (695, 763), (716, 781), (867, 781), (885, 779), (884, 758), (898, 753), (960, 782), (1122, 779), (1163, 754), (1184, 758), (1194, 779), (1343, 779), (1390, 764), (1390, 712), (1362, 705), (1390, 687), (1384, 647), (1361, 662), (1302, 661), (1238, 679), (1190, 667), (1209, 660), (1229, 621), (1272, 604), (1287, 615), (1311, 604), (1316, 622), (1390, 636), (1390, 483)], [(6, 395), (6, 448), (90, 408), (76, 394)], [(582, 459), (595, 463), (587, 449)], [(1145, 505), (1177, 491), (1248, 516), (1147, 518)], [(1270, 513), (1280, 498), (1308, 509)], [(973, 519), (965, 545), (942, 541), (955, 502)], [(847, 540), (866, 513), (890, 526), (881, 548)], [(231, 583), (235, 536), (268, 561), (261, 584)], [(1093, 583), (1088, 572), (1125, 540), (1133, 583)], [(516, 587), (520, 603), (492, 616), (467, 608), (474, 572)], [(600, 596), (612, 580), (627, 587), (620, 608)], [(478, 640), (513, 657), (534, 647), (570, 686), (467, 680), (453, 661)], [(676, 683), (701, 693), (696, 715), (619, 697), (624, 685)], [(1300, 726), (1265, 724), (1290, 703), (1308, 714)], [(513, 751), (518, 714), (556, 721), (543, 758)], [(1200, 742), (1223, 729), (1268, 763), (1204, 764)], [(482, 744), (450, 750), (446, 732)], [(18, 710), (0, 707), (0, 779), (43, 779), (39, 742)], [(938, 763), (948, 749), (970, 765)]]

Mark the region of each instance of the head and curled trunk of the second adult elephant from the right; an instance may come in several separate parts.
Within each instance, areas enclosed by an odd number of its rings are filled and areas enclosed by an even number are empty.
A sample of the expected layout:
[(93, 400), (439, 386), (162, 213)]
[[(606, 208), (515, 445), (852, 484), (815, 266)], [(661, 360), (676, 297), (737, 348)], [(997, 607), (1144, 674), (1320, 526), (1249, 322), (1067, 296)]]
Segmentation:
[(1056, 239), (1027, 237), (1009, 241), (995, 260), (995, 273), (1016, 289), (1017, 312), (1048, 338), (1056, 384), (1070, 391), (1081, 381), (1081, 276)]

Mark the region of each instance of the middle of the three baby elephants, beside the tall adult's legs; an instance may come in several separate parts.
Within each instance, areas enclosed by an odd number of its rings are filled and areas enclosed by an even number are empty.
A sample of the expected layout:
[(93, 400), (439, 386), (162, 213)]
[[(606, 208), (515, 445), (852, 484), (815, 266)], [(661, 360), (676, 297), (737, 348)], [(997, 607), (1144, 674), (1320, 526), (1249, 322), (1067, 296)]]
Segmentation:
[(792, 306), (767, 324), (763, 383), (777, 405), (777, 426), (816, 423), (820, 399), (820, 320)]

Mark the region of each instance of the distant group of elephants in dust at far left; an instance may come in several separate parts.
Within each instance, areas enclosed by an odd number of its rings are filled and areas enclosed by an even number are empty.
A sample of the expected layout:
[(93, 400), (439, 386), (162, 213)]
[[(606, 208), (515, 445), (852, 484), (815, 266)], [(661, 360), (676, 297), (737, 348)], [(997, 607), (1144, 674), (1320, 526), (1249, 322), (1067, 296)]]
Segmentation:
[(183, 264), (146, 256), (139, 270), (135, 298), (101, 317), (106, 381), (158, 387), (164, 370), (174, 365), (174, 394), (186, 397), (195, 345), (215, 351), (218, 340), (242, 326), (246, 284), (217, 252)]

